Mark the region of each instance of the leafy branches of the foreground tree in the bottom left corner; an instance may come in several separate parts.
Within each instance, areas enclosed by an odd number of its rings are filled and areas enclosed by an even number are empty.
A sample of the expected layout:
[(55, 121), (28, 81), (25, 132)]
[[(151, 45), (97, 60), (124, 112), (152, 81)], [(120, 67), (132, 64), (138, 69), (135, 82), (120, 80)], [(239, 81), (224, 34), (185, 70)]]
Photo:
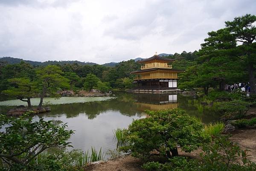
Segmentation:
[(34, 121), (26, 115), (19, 118), (0, 115), (0, 159), (10, 168), (26, 166), (47, 148), (71, 146), (67, 140), (73, 130), (66, 128), (66, 124), (56, 126), (52, 121)]

